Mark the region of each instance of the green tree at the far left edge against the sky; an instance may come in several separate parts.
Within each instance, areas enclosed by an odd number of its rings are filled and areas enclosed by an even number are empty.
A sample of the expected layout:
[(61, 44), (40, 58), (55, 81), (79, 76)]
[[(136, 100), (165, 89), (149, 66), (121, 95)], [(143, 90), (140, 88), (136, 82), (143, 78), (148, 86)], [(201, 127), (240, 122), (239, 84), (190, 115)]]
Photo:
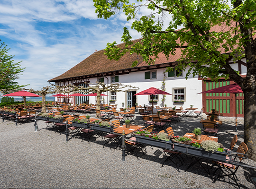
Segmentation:
[(0, 44), (0, 89), (23, 87), (19, 86), (15, 80), (19, 78), (25, 68), (20, 68), (21, 61), (13, 63), (14, 56), (8, 55), (9, 49), (6, 47), (5, 43)]

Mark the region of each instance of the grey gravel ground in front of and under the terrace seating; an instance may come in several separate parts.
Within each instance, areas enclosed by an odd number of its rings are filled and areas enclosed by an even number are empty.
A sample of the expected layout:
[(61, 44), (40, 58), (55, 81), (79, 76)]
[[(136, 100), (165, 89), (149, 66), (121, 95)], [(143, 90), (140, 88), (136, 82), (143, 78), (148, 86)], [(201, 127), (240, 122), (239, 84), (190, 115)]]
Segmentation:
[[(220, 119), (219, 142), (229, 147), (233, 136), (227, 131), (234, 131), (235, 118)], [(174, 134), (184, 135), (201, 127), (199, 120), (182, 118), (172, 123)], [(139, 116), (136, 122), (142, 123)], [(8, 120), (0, 123), (0, 188), (237, 188), (228, 178), (212, 183), (199, 164), (185, 172), (192, 161), (189, 156), (183, 155), (184, 165), (177, 162), (180, 172), (170, 161), (161, 166), (165, 157), (156, 147), (146, 147), (146, 155), (139, 152), (139, 160), (127, 155), (122, 162), (121, 150), (103, 148), (101, 137), (91, 139), (90, 144), (80, 138), (65, 142), (64, 132), (46, 129), (42, 120), (37, 123), (38, 132), (34, 132), (33, 122), (18, 126)], [(243, 130), (242, 118), (238, 118), (238, 130)], [(238, 136), (237, 144), (241, 141)], [(256, 166), (252, 160), (244, 162)], [(237, 176), (241, 188), (256, 188), (251, 181), (256, 170), (239, 167)]]

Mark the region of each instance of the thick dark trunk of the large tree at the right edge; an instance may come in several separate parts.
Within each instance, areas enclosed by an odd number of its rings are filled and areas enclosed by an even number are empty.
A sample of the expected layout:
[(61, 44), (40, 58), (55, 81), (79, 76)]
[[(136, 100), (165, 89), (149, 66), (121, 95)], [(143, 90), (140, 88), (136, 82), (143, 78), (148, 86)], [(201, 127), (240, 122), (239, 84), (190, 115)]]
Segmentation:
[(244, 92), (244, 97), (244, 141), (248, 157), (256, 161), (256, 88)]

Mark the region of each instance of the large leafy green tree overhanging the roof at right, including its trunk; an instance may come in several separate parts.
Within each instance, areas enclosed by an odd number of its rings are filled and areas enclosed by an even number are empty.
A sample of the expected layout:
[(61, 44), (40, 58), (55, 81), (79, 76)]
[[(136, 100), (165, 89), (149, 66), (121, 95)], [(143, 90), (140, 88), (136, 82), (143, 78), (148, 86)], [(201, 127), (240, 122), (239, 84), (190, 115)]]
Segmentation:
[[(142, 2), (142, 0), (137, 0)], [(127, 20), (144, 15), (133, 22), (132, 28), (141, 32), (141, 39), (134, 43), (128, 28), (124, 28), (124, 49), (108, 43), (106, 55), (119, 58), (129, 52), (140, 54), (148, 64), (154, 64), (159, 53), (169, 56), (181, 51), (175, 69), (189, 68), (188, 75), (231, 78), (244, 92), (244, 141), (249, 148), (249, 158), (256, 161), (256, 1), (255, 0), (146, 0), (139, 5), (128, 0), (94, 0), (98, 17), (105, 19), (123, 11)], [(171, 17), (164, 28), (166, 15)], [(158, 19), (156, 19), (158, 17)], [(214, 31), (214, 27), (221, 30)], [(178, 29), (181, 28), (181, 29)], [(229, 60), (247, 60), (247, 76), (241, 77), (232, 69)], [(136, 63), (135, 63), (136, 65)], [(169, 68), (172, 69), (172, 68)]]

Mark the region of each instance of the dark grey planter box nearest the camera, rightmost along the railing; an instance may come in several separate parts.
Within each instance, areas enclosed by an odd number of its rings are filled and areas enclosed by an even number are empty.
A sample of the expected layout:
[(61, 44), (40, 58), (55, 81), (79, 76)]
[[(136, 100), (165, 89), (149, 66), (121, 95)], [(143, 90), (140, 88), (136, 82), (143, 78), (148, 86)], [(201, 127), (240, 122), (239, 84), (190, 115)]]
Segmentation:
[(225, 153), (225, 152), (219, 152), (219, 151), (214, 151), (214, 153), (206, 152), (202, 148), (197, 148), (194, 146), (183, 145), (178, 143), (174, 143), (174, 150), (188, 154), (188, 155), (194, 155), (194, 156), (203, 157), (203, 158), (216, 160), (216, 161), (222, 161), (222, 162), (226, 161), (226, 156), (228, 155), (228, 153)]

